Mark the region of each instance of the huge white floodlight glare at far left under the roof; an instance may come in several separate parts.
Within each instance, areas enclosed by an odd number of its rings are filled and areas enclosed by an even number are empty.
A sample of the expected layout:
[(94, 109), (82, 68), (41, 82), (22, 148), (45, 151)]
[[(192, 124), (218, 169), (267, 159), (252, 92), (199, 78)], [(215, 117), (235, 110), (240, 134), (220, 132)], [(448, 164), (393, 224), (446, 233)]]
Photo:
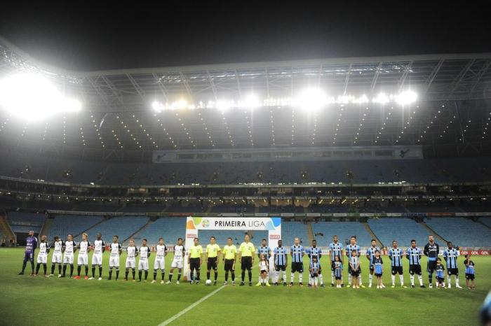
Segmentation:
[(65, 97), (39, 74), (18, 73), (0, 80), (0, 106), (14, 116), (43, 120), (56, 113), (79, 112), (79, 100)]

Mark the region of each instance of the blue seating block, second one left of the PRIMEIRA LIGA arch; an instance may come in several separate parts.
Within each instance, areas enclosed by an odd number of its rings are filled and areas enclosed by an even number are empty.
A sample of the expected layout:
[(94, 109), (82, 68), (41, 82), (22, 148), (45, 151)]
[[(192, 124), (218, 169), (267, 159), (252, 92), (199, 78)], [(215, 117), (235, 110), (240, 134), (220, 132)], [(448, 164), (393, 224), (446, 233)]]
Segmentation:
[[(112, 236), (117, 234), (119, 236), (119, 241), (122, 242), (128, 238), (128, 236), (143, 227), (148, 220), (149, 218), (146, 216), (121, 216), (110, 218), (109, 220), (105, 220), (88, 229), (88, 233), (93, 235), (101, 233), (102, 239), (105, 239), (105, 241), (111, 241)], [(80, 239), (81, 236), (75, 237), (75, 241), (80, 241)]]

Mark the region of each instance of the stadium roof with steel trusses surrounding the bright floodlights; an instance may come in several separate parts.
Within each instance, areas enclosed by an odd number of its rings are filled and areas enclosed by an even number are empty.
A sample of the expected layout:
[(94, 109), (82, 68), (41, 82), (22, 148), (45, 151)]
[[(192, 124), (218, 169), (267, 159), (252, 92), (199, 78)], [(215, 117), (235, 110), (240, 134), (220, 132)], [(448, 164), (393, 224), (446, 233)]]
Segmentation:
[[(490, 141), (491, 53), (67, 71), (36, 62), (0, 38), (0, 55), (0, 76), (41, 73), (83, 104), (78, 115), (46, 125), (13, 126), (0, 117), (2, 141), (21, 136), (32, 146), (104, 152), (459, 143), (478, 150)], [(283, 102), (305, 87), (325, 90), (335, 103), (302, 111)], [(411, 106), (370, 100), (405, 90), (418, 94)], [(217, 110), (218, 102), (243, 101), (251, 93), (268, 104)], [(183, 99), (203, 108), (152, 111), (154, 101)]]

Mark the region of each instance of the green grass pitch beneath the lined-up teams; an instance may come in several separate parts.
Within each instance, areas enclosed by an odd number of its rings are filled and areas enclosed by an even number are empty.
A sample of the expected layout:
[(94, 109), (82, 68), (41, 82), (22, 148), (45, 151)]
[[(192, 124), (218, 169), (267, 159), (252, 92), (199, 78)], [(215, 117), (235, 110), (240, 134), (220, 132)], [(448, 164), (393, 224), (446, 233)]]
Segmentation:
[[(0, 325), (159, 325), (220, 288), (224, 281), (222, 263), (216, 286), (34, 278), (28, 275), (29, 264), (27, 274), (18, 276), (22, 256), (20, 248), (0, 248)], [(123, 253), (122, 266), (125, 258)], [(109, 255), (105, 253), (105, 278), (108, 260)], [(462, 290), (392, 289), (390, 286), (382, 290), (355, 290), (330, 287), (328, 257), (323, 257), (326, 288), (228, 285), (174, 320), (173, 325), (478, 325), (480, 304), (491, 288), (491, 257), (473, 257), (476, 290), (465, 288), (463, 260), (463, 257), (459, 259)], [(166, 281), (171, 261), (172, 254), (166, 257)], [(48, 262), (51, 262), (51, 254)], [(154, 255), (150, 257), (149, 281), (153, 279), (153, 262)], [(368, 285), (367, 260), (363, 257), (362, 262), (363, 284)], [(384, 284), (391, 285), (389, 260), (384, 262)], [(257, 283), (257, 260), (255, 264), (253, 283)], [(407, 260), (404, 264), (405, 283), (409, 285)], [(426, 261), (423, 262), (425, 267)], [(51, 270), (49, 263), (48, 269)], [(55, 273), (57, 271), (58, 267)], [(346, 270), (344, 274), (346, 281)], [(240, 271), (237, 276), (240, 278)], [(157, 277), (160, 278), (160, 273)], [(287, 277), (290, 277), (289, 271)], [(124, 269), (121, 269), (120, 280), (122, 278)], [(206, 266), (202, 267), (201, 279), (204, 278)], [(423, 280), (427, 286), (426, 272), (423, 272)], [(307, 272), (304, 272), (304, 283), (307, 283)]]

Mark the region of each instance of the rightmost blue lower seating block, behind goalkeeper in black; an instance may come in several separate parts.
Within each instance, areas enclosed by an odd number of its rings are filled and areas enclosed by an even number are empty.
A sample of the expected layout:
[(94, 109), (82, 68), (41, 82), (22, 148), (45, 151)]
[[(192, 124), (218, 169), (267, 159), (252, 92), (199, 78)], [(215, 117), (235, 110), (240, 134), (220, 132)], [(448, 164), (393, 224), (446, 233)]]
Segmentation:
[(452, 241), (455, 246), (491, 246), (491, 230), (467, 218), (425, 218), (424, 222), (443, 239)]

